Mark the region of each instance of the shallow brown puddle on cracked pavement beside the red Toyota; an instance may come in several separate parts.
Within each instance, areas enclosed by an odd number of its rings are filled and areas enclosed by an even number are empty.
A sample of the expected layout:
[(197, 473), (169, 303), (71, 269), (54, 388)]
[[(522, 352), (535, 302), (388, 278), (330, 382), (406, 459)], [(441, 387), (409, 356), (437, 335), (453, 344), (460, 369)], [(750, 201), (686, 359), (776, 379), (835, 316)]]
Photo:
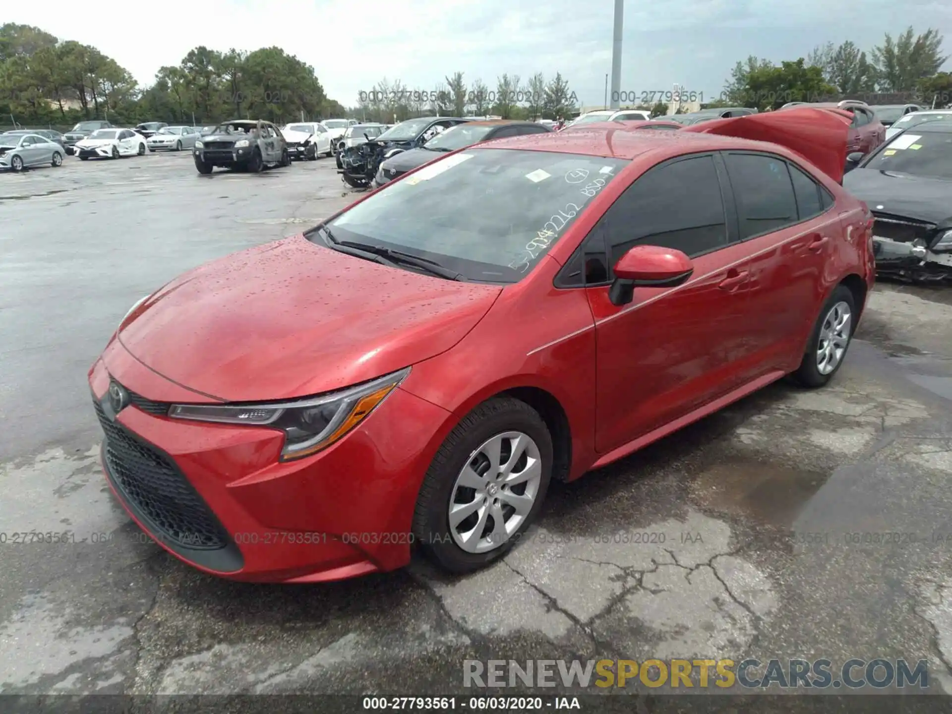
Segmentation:
[(788, 528), (830, 474), (734, 460), (694, 476), (693, 500), (703, 508)]

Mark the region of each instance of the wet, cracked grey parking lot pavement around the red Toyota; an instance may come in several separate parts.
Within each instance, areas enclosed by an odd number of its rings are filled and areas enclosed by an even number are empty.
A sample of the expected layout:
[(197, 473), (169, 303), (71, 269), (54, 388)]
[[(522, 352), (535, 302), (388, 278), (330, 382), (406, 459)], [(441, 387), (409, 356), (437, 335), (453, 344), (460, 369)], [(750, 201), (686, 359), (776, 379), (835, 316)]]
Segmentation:
[(0, 175), (0, 692), (446, 693), (466, 659), (749, 656), (927, 659), (952, 693), (948, 288), (881, 283), (829, 387), (767, 387), (553, 485), (472, 576), (243, 585), (148, 542), (100, 472), (89, 366), (137, 299), (345, 192), (333, 159)]

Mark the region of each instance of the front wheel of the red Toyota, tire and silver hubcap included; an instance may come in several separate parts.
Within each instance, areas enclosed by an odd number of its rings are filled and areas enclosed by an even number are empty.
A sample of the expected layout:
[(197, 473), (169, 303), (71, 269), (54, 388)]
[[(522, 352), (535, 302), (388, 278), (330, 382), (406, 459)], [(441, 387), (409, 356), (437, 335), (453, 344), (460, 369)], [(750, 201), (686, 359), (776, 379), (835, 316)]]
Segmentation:
[(446, 437), (413, 513), (414, 541), (450, 572), (501, 558), (538, 515), (552, 473), (552, 438), (539, 413), (496, 397)]

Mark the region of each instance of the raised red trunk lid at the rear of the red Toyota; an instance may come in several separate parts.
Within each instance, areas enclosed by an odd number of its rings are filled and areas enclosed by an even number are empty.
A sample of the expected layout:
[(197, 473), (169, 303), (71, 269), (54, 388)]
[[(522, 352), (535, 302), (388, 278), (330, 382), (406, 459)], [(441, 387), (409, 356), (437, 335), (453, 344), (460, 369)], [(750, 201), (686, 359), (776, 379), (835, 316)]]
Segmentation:
[(681, 130), (780, 144), (796, 151), (817, 169), (842, 184), (846, 142), (852, 119), (852, 114), (841, 109), (797, 107), (713, 119)]

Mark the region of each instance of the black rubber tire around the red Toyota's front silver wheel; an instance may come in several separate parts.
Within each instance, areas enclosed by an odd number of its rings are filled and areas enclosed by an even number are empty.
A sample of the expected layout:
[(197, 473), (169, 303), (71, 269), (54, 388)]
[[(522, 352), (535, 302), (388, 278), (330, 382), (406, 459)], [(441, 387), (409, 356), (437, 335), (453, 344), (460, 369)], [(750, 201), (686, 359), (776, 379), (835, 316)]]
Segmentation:
[[(539, 448), (542, 475), (535, 501), (526, 519), (502, 545), (484, 553), (469, 553), (449, 533), (448, 510), (457, 476), (473, 452), (496, 434), (521, 431)], [(413, 512), (414, 542), (440, 567), (465, 573), (489, 565), (518, 543), (538, 515), (552, 473), (552, 437), (539, 413), (509, 397), (494, 397), (469, 412), (449, 433), (426, 471)]]

